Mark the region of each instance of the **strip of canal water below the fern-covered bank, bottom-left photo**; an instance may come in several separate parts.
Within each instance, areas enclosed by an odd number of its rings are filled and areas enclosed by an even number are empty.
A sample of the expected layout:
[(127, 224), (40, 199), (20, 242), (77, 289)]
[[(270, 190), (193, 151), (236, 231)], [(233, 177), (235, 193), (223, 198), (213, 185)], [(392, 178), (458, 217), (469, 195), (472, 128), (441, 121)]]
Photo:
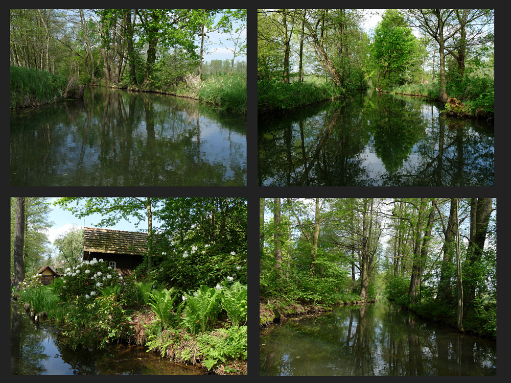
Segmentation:
[(204, 371), (172, 363), (146, 347), (110, 344), (103, 349), (63, 348), (50, 323), (36, 328), (11, 304), (12, 375), (201, 375)]

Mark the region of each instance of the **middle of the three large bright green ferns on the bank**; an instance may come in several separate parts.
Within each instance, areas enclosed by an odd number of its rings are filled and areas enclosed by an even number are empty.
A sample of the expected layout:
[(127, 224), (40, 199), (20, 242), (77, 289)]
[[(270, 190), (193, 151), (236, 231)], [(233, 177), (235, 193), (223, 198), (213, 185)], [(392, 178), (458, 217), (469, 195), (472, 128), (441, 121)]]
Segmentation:
[(190, 329), (192, 333), (197, 333), (199, 328), (204, 332), (213, 327), (220, 313), (221, 289), (219, 284), (215, 288), (202, 285), (192, 295), (183, 295), (183, 300), (186, 301), (183, 310), (183, 326)]

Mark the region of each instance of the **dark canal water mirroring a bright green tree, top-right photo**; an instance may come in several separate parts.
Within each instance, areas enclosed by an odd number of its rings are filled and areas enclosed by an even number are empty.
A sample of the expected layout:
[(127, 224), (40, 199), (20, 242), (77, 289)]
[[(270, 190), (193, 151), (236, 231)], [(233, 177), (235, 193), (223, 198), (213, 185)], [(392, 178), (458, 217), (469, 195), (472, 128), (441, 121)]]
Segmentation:
[(258, 118), (259, 186), (493, 186), (494, 129), (405, 95)]

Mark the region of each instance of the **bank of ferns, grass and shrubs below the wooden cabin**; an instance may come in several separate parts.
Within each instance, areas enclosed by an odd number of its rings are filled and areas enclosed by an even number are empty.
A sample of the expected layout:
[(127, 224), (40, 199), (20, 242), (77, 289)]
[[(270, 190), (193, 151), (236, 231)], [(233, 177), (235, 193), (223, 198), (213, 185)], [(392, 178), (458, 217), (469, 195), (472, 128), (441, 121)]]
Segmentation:
[[(246, 285), (201, 286), (190, 294), (122, 278), (107, 285), (117, 273), (86, 267), (77, 268), (74, 274), (81, 273), (73, 279), (58, 278), (49, 286), (40, 285), (37, 276), (27, 278), (15, 293), (21, 310), (60, 327), (61, 342), (71, 349), (120, 340), (210, 373), (247, 373)], [(84, 275), (94, 271), (96, 278)], [(83, 280), (77, 282), (80, 274)], [(93, 292), (79, 285), (93, 279), (103, 281), (96, 282)]]

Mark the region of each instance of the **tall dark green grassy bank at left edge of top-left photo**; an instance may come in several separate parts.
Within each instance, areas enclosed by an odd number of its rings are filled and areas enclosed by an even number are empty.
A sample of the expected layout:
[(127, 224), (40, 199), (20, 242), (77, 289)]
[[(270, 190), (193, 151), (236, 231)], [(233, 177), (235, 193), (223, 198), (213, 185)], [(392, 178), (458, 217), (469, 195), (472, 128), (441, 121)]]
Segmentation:
[[(35, 107), (76, 98), (80, 86), (45, 70), (9, 67), (9, 108)], [(83, 95), (83, 93), (82, 93)]]

